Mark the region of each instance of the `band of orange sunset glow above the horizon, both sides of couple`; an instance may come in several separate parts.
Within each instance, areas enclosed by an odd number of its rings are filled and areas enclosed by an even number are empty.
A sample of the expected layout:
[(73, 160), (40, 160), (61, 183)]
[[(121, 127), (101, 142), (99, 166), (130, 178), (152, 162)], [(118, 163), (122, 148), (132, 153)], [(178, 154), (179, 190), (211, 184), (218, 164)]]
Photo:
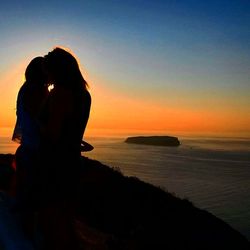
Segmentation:
[[(15, 124), (15, 102), (23, 82), (24, 60), (6, 71), (0, 78), (0, 132), (10, 136)], [(105, 87), (101, 79), (89, 76), (87, 80), (92, 95), (92, 108), (86, 136), (101, 135), (100, 131), (161, 131), (161, 133), (186, 132), (249, 135), (249, 109), (233, 106), (218, 107), (204, 98), (200, 105), (185, 105), (185, 101), (166, 101), (165, 105), (142, 98), (131, 98)], [(90, 79), (88, 79), (90, 78)], [(132, 91), (132, 90), (131, 90)], [(211, 108), (212, 107), (212, 108)], [(4, 128), (10, 128), (4, 130)], [(7, 132), (8, 131), (8, 132)], [(99, 132), (98, 132), (99, 131)], [(103, 132), (104, 133), (104, 132)]]

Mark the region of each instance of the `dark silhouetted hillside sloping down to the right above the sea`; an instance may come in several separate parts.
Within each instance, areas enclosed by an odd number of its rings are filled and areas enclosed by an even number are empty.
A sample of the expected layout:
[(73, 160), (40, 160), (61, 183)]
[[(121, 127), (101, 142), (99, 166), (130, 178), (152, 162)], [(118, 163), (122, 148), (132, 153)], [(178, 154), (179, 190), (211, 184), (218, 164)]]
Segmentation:
[[(0, 173), (12, 159), (0, 155)], [(81, 161), (75, 229), (82, 249), (250, 249), (238, 231), (191, 202), (98, 161)]]

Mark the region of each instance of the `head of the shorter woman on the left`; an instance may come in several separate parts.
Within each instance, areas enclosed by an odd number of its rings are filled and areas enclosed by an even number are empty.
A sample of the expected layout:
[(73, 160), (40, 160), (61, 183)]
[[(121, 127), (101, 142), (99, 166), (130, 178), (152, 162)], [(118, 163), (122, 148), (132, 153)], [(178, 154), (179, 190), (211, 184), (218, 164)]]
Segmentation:
[(44, 58), (41, 56), (31, 60), (25, 70), (25, 79), (29, 84), (44, 85), (47, 83), (48, 75), (44, 67)]

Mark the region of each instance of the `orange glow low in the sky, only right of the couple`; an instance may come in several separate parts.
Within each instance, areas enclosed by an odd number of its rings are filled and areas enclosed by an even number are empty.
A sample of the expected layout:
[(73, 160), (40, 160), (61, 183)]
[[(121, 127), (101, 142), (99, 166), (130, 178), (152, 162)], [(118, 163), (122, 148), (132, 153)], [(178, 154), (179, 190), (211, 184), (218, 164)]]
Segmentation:
[(91, 90), (92, 109), (88, 125), (91, 129), (250, 134), (250, 118), (244, 115), (247, 110), (239, 115), (239, 110), (227, 110), (226, 107), (197, 109), (195, 106), (168, 106), (167, 103), (164, 106), (127, 97), (98, 82), (91, 86)]

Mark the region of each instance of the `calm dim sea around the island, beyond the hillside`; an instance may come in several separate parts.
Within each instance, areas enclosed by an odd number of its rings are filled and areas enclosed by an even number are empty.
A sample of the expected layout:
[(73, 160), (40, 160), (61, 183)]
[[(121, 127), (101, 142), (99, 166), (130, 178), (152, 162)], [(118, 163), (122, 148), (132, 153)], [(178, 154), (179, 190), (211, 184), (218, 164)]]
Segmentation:
[[(188, 198), (250, 240), (250, 138), (179, 139), (181, 146), (172, 148), (90, 137), (95, 149), (85, 156)], [(0, 153), (14, 153), (16, 146), (0, 138)]]

